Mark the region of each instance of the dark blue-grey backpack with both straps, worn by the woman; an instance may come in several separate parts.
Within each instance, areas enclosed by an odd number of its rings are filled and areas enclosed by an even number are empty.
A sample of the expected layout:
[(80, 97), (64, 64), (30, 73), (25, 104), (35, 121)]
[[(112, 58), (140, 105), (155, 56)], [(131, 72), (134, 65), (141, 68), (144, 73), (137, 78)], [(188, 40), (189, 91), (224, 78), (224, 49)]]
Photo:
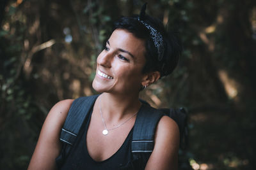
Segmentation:
[[(68, 111), (67, 118), (61, 129), (60, 141), (63, 143), (60, 156), (56, 159), (58, 166), (65, 162), (72, 145), (76, 141), (76, 136), (86, 118), (87, 113), (93, 107), (95, 100), (99, 95), (89, 97), (79, 97), (72, 103)], [(134, 129), (132, 133), (132, 162), (129, 165), (121, 167), (121, 169), (144, 169), (147, 160), (154, 149), (154, 132), (156, 126), (163, 115), (173, 118), (179, 125), (180, 130), (180, 146), (186, 145), (187, 127), (186, 127), (186, 111), (179, 109), (155, 109), (146, 101), (140, 100), (145, 104), (143, 111), (136, 117)], [(72, 114), (71, 114), (72, 113)], [(147, 119), (145, 118), (147, 117)]]

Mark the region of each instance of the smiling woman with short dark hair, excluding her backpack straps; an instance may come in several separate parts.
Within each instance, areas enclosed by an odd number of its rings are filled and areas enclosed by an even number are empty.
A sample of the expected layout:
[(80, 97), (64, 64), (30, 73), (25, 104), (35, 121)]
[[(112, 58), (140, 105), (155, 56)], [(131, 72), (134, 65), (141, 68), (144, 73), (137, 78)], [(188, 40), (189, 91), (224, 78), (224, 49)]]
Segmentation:
[[(140, 16), (120, 18), (113, 30), (97, 58), (93, 89), (100, 96), (70, 154), (63, 164), (58, 164), (60, 169), (132, 169), (130, 141), (136, 117), (143, 108), (139, 93), (172, 73), (177, 65), (179, 41), (168, 36), (159, 20), (145, 15), (145, 5)], [(56, 158), (63, 151), (60, 131), (67, 115), (72, 114), (68, 111), (73, 102), (68, 99), (52, 107), (28, 169), (57, 169)], [(177, 169), (178, 150), (179, 127), (163, 116), (145, 169)]]

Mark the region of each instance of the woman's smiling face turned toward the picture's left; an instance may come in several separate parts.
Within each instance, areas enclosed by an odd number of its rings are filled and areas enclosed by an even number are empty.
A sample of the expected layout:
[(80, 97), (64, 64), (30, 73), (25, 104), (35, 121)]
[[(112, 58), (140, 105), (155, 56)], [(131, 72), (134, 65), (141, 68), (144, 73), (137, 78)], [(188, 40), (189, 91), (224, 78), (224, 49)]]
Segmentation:
[(138, 93), (145, 65), (144, 41), (125, 29), (116, 29), (97, 58), (93, 89), (118, 94)]

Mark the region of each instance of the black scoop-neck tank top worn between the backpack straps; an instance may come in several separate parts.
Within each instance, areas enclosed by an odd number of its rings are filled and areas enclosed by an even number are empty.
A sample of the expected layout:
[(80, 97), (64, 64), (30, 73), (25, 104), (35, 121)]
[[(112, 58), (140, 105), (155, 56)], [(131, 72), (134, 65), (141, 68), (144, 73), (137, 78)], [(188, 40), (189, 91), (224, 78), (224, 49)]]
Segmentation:
[(65, 163), (63, 164), (61, 169), (130, 169), (129, 167), (132, 166), (131, 140), (133, 128), (129, 132), (122, 146), (116, 153), (114, 153), (114, 155), (106, 160), (97, 162), (93, 160), (92, 157), (90, 157), (86, 146), (86, 134), (88, 131), (91, 116), (92, 110), (90, 111), (89, 116), (85, 119), (81, 131), (77, 136), (76, 143), (72, 147), (72, 150), (70, 151), (70, 154), (66, 158)]

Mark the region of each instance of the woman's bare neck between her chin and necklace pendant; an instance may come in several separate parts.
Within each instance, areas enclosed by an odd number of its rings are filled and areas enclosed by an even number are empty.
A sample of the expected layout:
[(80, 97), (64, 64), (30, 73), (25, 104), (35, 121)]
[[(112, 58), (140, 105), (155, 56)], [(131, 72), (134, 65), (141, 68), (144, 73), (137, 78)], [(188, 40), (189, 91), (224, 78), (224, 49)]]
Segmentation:
[(108, 118), (108, 121), (119, 122), (122, 118), (134, 115), (141, 106), (139, 94), (136, 96), (118, 96), (103, 93), (100, 97), (102, 112)]

